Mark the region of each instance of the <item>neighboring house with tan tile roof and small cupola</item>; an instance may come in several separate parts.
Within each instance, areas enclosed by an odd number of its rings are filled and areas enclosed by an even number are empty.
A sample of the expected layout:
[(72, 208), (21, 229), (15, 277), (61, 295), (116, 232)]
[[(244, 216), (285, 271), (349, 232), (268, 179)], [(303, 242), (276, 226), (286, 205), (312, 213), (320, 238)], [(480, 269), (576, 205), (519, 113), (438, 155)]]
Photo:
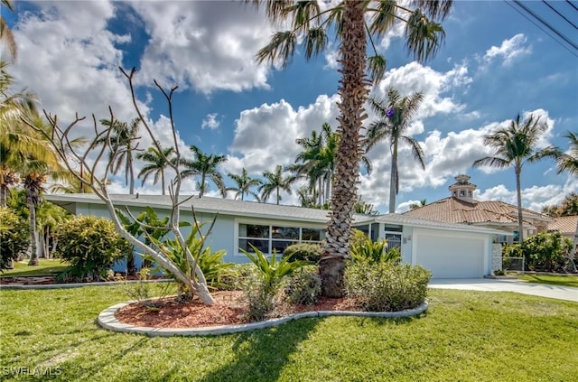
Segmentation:
[[(502, 235), (501, 244), (517, 241), (517, 206), (503, 201), (473, 200), (473, 191), (477, 186), (470, 182), (470, 176), (458, 175), (456, 182), (449, 187), (448, 198), (433, 201), (423, 207), (404, 213), (406, 217), (423, 218), (447, 223), (463, 223), (476, 227), (495, 228), (511, 232), (511, 236)], [(533, 210), (522, 210), (524, 238), (546, 231), (554, 219)], [(575, 226), (574, 226), (575, 228)]]

